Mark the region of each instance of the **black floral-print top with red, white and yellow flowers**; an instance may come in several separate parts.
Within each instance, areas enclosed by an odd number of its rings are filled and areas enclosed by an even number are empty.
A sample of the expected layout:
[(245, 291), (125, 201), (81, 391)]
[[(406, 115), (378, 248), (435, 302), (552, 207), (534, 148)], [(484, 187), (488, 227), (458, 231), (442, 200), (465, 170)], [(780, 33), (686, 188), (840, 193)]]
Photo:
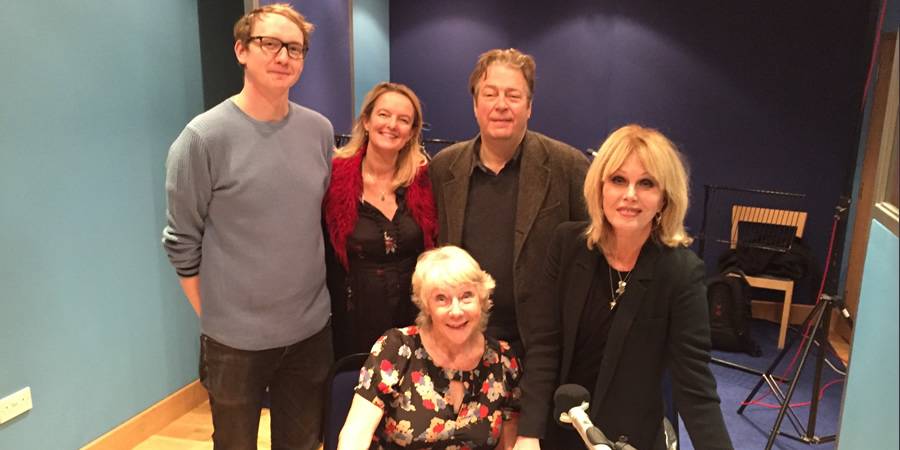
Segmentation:
[[(481, 364), (444, 369), (431, 360), (416, 327), (391, 329), (360, 370), (356, 393), (384, 410), (370, 449), (493, 449), (502, 421), (519, 411), (521, 366), (503, 341), (485, 336)], [(459, 412), (450, 381), (464, 388)]]

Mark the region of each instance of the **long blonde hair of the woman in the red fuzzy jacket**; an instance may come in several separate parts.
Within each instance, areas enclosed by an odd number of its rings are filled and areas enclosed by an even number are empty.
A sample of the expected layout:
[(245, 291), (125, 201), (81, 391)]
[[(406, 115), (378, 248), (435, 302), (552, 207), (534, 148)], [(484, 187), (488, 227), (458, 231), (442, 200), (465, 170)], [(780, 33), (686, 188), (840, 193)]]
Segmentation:
[(406, 143), (405, 147), (400, 149), (400, 154), (397, 155), (397, 166), (394, 172), (394, 179), (391, 183), (391, 187), (396, 189), (400, 186), (409, 186), (416, 178), (416, 173), (418, 173), (419, 168), (428, 162), (428, 158), (422, 151), (422, 144), (420, 142), (423, 123), (422, 104), (419, 102), (419, 97), (416, 97), (416, 94), (412, 89), (402, 84), (387, 82), (378, 83), (378, 85), (372, 88), (372, 90), (366, 94), (365, 100), (363, 100), (363, 106), (362, 110), (359, 112), (359, 117), (353, 122), (353, 129), (350, 132), (350, 141), (347, 142), (347, 145), (339, 148), (335, 152), (334, 157), (352, 158), (362, 150), (363, 145), (368, 144), (369, 136), (366, 134), (366, 128), (363, 122), (371, 119), (372, 111), (375, 109), (375, 102), (388, 92), (396, 92), (406, 96), (412, 103), (414, 111), (412, 129), (409, 132), (409, 142)]

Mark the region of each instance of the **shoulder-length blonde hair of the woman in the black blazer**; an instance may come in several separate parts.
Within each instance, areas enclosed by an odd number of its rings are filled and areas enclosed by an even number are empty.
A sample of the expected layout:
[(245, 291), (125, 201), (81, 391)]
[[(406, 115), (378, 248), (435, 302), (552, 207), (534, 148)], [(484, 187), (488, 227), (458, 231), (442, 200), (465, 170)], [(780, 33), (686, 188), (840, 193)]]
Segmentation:
[(614, 248), (615, 235), (603, 214), (603, 183), (632, 154), (637, 155), (650, 176), (659, 183), (663, 194), (660, 220), (654, 221), (650, 237), (669, 247), (689, 245), (693, 239), (684, 230), (689, 196), (688, 168), (683, 156), (659, 131), (627, 125), (606, 138), (585, 176), (584, 199), (591, 216), (586, 233), (588, 248), (599, 246), (605, 253)]

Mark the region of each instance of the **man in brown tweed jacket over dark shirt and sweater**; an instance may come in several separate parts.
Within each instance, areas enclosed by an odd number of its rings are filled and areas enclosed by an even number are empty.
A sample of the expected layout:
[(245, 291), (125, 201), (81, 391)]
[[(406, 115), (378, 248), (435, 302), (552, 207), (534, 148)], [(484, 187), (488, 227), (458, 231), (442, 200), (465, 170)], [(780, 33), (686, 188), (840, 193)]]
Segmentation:
[(527, 130), (534, 68), (516, 49), (481, 55), (469, 79), (481, 133), (441, 150), (429, 166), (438, 243), (464, 248), (497, 280), (486, 334), (509, 342), (519, 357), (519, 330), (528, 320), (521, 305), (547, 244), (560, 223), (588, 217), (587, 157)]

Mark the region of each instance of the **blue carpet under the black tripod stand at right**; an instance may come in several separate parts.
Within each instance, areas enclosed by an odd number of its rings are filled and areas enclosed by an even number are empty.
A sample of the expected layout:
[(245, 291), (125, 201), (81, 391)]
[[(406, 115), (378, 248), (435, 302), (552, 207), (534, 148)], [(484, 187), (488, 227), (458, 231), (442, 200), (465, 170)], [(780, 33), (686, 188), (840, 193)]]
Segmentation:
[[(797, 330), (788, 328), (788, 344), (793, 337), (797, 336), (797, 332)], [(781, 352), (781, 350), (777, 348), (778, 324), (764, 320), (754, 320), (751, 335), (762, 349), (762, 356), (754, 358), (744, 353), (731, 353), (716, 350), (713, 351), (713, 358), (765, 371)], [(772, 371), (774, 375), (784, 375), (785, 370), (791, 363), (791, 360), (794, 359), (795, 354), (798, 355), (796, 358), (797, 362), (791, 368), (791, 372), (787, 376), (792, 377), (793, 374), (796, 373), (797, 364), (799, 364), (800, 360), (799, 350), (802, 348), (801, 342), (801, 339), (796, 339), (794, 343), (790, 345), (788, 353), (782, 359), (778, 367)], [(831, 361), (831, 363), (839, 370), (846, 371), (846, 367), (840, 362), (840, 359), (835, 356), (832, 351), (829, 351), (832, 350), (830, 345), (827, 349), (822, 350), (826, 351), (825, 358), (828, 361)], [(816, 345), (813, 345), (810, 349), (809, 356), (807, 357), (806, 363), (803, 366), (803, 371), (800, 374), (800, 381), (798, 381), (797, 387), (794, 390), (794, 395), (791, 398), (792, 405), (808, 403), (812, 399), (812, 385), (816, 372), (816, 357), (818, 351), (819, 348)], [(716, 377), (719, 397), (722, 399), (722, 414), (725, 417), (725, 425), (728, 427), (728, 433), (731, 435), (731, 441), (734, 443), (734, 447), (736, 449), (765, 448), (766, 442), (769, 440), (771, 429), (775, 425), (775, 420), (778, 417), (778, 408), (749, 405), (744, 409), (742, 414), (737, 413), (738, 408), (741, 406), (741, 402), (747, 398), (757, 382), (762, 380), (762, 377), (717, 364), (711, 364), (710, 368), (712, 369), (713, 375)], [(843, 380), (843, 378), (844, 376), (842, 374), (835, 372), (828, 364), (822, 366), (820, 390), (824, 388), (824, 395), (821, 400), (819, 400), (819, 410), (816, 414), (815, 422), (815, 437), (823, 438), (837, 433), (844, 383), (842, 381), (837, 381), (827, 388), (825, 388), (825, 386), (832, 381)], [(782, 383), (781, 390), (786, 394), (788, 383)], [(771, 394), (767, 384), (763, 384), (751, 400), (757, 400), (765, 394), (768, 395), (759, 400), (760, 403), (780, 405), (775, 396)], [(810, 406), (806, 404), (804, 406), (796, 406), (792, 409), (799, 419), (799, 424), (802, 428), (798, 430), (791, 424), (791, 421), (789, 420), (790, 412), (788, 412), (781, 423), (780, 429), (782, 432), (793, 437), (805, 436), (808, 431), (807, 428), (809, 427)], [(679, 448), (682, 450), (692, 450), (694, 448), (702, 449), (702, 443), (698, 442), (696, 445), (691, 443), (690, 437), (684, 429), (684, 422), (681, 421), (679, 425)], [(780, 434), (775, 438), (775, 444), (772, 448), (779, 450), (832, 450), (834, 449), (834, 442), (810, 445)]]

